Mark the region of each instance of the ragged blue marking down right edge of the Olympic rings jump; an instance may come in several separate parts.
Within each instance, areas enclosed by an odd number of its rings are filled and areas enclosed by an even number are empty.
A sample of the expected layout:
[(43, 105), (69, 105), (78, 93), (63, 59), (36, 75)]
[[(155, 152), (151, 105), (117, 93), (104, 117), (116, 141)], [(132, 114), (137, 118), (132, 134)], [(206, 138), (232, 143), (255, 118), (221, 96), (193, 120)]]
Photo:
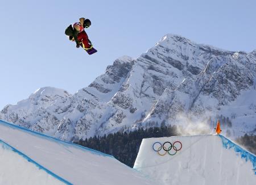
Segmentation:
[(218, 135), (221, 140), (224, 148), (226, 149), (233, 149), (235, 152), (239, 153), (242, 159), (245, 159), (245, 161), (250, 161), (253, 165), (253, 171), (256, 175), (256, 156), (247, 152), (245, 149), (242, 149), (241, 146), (238, 146), (237, 144), (234, 144), (234, 142), (230, 141), (228, 138)]

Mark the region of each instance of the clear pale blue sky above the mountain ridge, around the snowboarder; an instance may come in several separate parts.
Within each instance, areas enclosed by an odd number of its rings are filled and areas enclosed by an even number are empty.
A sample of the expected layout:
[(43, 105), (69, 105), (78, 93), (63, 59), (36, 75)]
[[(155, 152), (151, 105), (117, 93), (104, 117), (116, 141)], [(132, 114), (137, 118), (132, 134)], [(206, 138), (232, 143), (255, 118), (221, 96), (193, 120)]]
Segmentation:
[[(84, 16), (98, 53), (64, 35)], [(230, 51), (256, 49), (256, 1), (8, 0), (0, 6), (0, 109), (44, 86), (75, 93), (123, 55), (138, 57), (167, 33)]]

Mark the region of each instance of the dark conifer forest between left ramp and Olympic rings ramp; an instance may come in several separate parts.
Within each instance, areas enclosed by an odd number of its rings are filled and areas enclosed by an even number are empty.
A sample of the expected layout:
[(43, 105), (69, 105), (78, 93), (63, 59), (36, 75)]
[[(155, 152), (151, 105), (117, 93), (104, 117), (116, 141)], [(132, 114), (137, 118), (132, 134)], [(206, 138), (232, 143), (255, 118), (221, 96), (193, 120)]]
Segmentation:
[(76, 144), (113, 155), (116, 159), (133, 167), (143, 138), (177, 136), (176, 126), (139, 128), (133, 132), (117, 132), (102, 137), (90, 137)]

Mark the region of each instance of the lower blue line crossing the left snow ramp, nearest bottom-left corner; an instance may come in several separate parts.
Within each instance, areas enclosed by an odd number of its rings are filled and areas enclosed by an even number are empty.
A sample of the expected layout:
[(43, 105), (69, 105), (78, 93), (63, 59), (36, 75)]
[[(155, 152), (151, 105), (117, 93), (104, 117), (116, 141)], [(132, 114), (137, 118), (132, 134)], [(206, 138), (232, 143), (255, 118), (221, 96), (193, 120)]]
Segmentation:
[(30, 157), (28, 157), (27, 155), (23, 154), (22, 152), (20, 152), (19, 150), (15, 149), (13, 146), (7, 144), (6, 142), (0, 140), (0, 143), (2, 143), (2, 148), (3, 149), (8, 149), (8, 150), (12, 150), (15, 153), (18, 153), (19, 155), (21, 155), (23, 158), (25, 158), (28, 162), (34, 163), (34, 165), (36, 165), (39, 170), (44, 170), (46, 171), (46, 173), (48, 173), (49, 175), (52, 175), (54, 178), (59, 179), (61, 182), (65, 183), (65, 184), (72, 184), (70, 182), (68, 182), (67, 180), (61, 178), (60, 176), (56, 175), (55, 173), (52, 173), (52, 171), (49, 171), (48, 169), (46, 169), (45, 167), (43, 167), (42, 165), (39, 165), (39, 163), (35, 162), (33, 159), (31, 159)]

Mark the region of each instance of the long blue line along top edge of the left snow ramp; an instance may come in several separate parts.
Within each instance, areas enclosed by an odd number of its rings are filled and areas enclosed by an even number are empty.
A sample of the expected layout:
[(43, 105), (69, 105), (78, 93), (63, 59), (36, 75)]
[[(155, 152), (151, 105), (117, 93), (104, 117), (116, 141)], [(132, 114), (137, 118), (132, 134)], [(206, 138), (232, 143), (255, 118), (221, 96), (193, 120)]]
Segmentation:
[[(69, 146), (72, 146), (74, 148), (77, 148), (77, 149), (80, 149), (80, 150), (84, 150), (86, 152), (91, 152), (93, 154), (97, 154), (97, 155), (102, 155), (102, 156), (105, 156), (105, 157), (111, 157), (111, 158), (114, 158), (112, 155), (109, 155), (109, 154), (105, 154), (105, 153), (102, 153), (102, 152), (99, 152), (97, 150), (93, 150), (93, 149), (90, 149), (90, 148), (87, 148), (85, 146), (81, 146), (81, 145), (77, 145), (77, 144), (74, 144), (73, 142), (68, 142), (68, 141), (62, 141), (62, 140), (59, 140), (58, 138), (55, 138), (55, 137), (51, 137), (51, 136), (47, 136), (45, 134), (42, 134), (42, 133), (39, 133), (39, 132), (35, 132), (35, 131), (31, 131), (30, 129), (27, 129), (27, 128), (24, 128), (24, 127), (20, 127), (18, 125), (14, 125), (14, 124), (11, 124), (11, 123), (8, 123), (6, 121), (3, 121), (3, 120), (0, 120), (0, 124), (3, 124), (3, 125), (6, 125), (7, 127), (11, 127), (13, 129), (19, 129), (19, 130), (22, 130), (24, 132), (27, 132), (27, 133), (30, 133), (34, 136), (39, 136), (39, 137), (42, 137), (44, 139), (48, 139), (48, 140), (51, 140), (51, 141), (55, 141), (57, 142), (58, 144), (61, 144), (63, 146), (66, 146), (68, 149)], [(115, 158), (114, 158), (115, 159)]]

